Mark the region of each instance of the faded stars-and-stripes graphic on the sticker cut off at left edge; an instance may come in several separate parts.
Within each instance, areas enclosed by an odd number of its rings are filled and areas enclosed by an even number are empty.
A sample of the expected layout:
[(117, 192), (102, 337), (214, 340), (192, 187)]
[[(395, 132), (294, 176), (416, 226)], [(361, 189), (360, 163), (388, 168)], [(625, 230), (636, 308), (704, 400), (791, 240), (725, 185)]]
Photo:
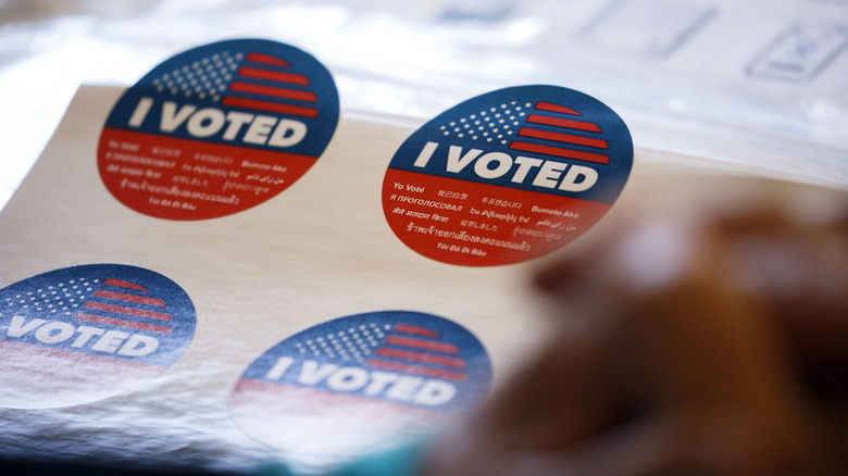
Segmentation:
[(5, 298), (7, 304), (42, 315), (128, 329), (171, 334), (171, 314), (144, 286), (122, 279), (73, 278)]

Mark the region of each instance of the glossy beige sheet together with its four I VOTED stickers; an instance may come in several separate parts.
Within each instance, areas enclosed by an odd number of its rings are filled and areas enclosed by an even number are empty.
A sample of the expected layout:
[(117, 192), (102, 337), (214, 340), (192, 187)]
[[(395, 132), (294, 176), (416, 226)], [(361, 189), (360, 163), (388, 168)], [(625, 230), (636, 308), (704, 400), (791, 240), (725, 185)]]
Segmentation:
[(328, 71), (266, 40), (83, 88), (0, 215), (0, 450), (321, 464), (438, 430), (533, 346), (526, 272), (632, 163), (557, 86), (339, 120)]

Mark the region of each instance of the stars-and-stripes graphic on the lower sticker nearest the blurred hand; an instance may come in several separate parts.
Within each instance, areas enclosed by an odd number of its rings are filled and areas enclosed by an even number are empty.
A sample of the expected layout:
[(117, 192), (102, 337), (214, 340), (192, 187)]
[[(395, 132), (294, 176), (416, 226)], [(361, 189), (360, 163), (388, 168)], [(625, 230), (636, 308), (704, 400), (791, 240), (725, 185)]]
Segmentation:
[(467, 379), (459, 347), (431, 329), (369, 323), (295, 342), (301, 355), (353, 361), (372, 368), (453, 381)]

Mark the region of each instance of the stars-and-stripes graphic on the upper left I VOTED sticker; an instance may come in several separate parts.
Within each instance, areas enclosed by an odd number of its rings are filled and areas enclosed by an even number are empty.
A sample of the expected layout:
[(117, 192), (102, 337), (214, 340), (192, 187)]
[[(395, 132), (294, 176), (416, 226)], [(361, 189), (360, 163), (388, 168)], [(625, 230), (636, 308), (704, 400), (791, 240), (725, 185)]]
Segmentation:
[(315, 92), (291, 64), (261, 52), (222, 51), (153, 78), (157, 91), (221, 105), (317, 117)]

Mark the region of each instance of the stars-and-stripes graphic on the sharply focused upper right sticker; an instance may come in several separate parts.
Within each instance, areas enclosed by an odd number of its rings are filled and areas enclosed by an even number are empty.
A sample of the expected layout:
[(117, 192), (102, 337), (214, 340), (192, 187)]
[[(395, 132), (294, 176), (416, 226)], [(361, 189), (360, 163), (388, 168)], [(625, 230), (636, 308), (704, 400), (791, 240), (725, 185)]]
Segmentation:
[(598, 124), (552, 102), (502, 102), (439, 126), (445, 137), (471, 139), (551, 159), (609, 164), (609, 147)]

